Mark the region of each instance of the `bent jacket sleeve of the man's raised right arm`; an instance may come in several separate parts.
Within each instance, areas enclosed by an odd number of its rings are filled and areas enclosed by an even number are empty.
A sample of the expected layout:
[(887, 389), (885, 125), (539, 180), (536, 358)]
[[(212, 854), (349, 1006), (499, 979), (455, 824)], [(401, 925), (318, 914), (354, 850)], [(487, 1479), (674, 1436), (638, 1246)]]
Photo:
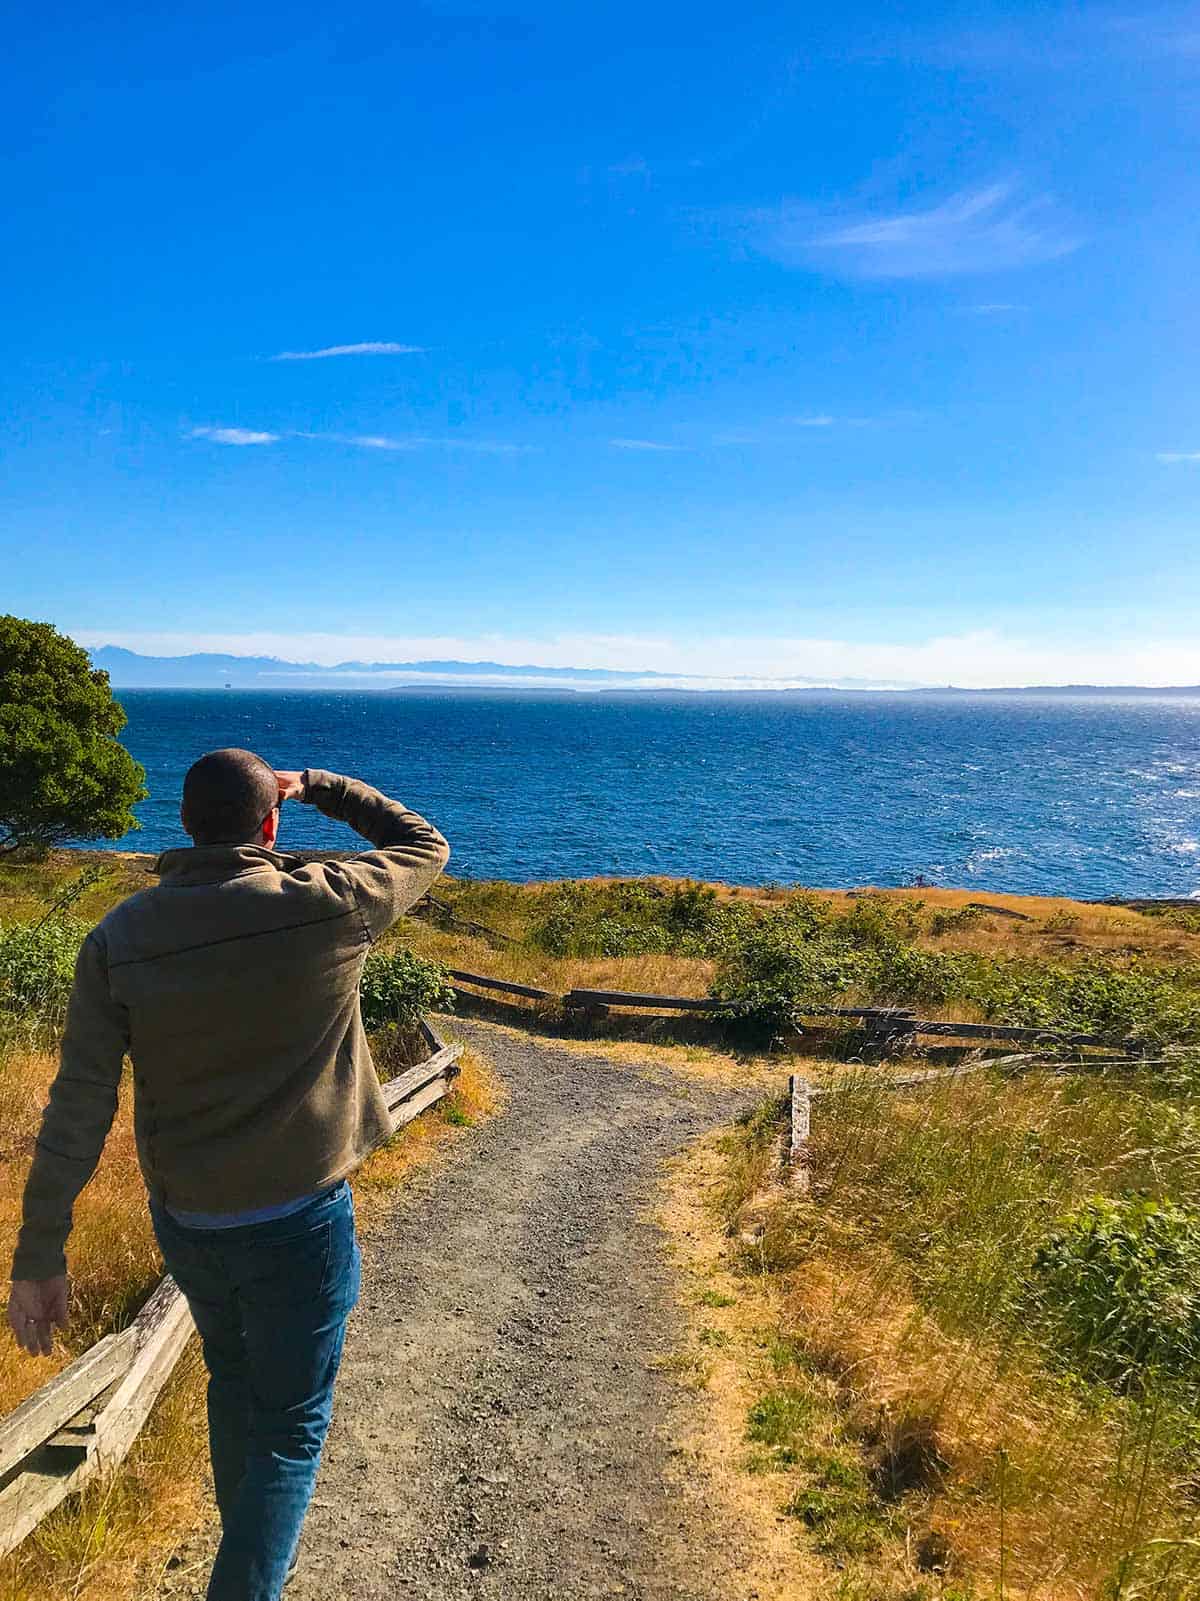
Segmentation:
[(450, 860), (450, 845), (416, 812), (357, 778), (310, 767), (304, 799), (326, 817), (349, 823), (376, 847), (347, 861), (331, 861), (330, 877), (349, 879), (373, 940), (421, 900)]

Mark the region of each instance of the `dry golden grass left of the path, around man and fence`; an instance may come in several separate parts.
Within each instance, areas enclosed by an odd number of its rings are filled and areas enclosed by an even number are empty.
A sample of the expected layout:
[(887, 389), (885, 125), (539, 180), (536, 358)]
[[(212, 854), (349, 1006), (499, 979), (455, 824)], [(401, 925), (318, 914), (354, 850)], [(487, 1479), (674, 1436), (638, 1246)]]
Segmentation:
[[(435, 1109), (402, 1129), (358, 1169), (354, 1188), (360, 1226), (370, 1231), (389, 1198), (432, 1161), (462, 1127), (488, 1117), (499, 1081), (475, 1052), (464, 1052), (454, 1089)], [(42, 1050), (0, 1053), (0, 1222), (11, 1239), (29, 1154), (56, 1058)], [(128, 1101), (128, 1097), (125, 1097)], [(0, 1415), (43, 1385), (74, 1356), (130, 1321), (162, 1276), (138, 1169), (130, 1105), (122, 1105), (101, 1166), (75, 1207), (70, 1236), (72, 1319), (48, 1358), (29, 1358), (0, 1340)], [(125, 1601), (197, 1523), (205, 1505), (208, 1439), (203, 1364), (195, 1342), (176, 1369), (122, 1470), (54, 1511), (0, 1561), (0, 1601)]]

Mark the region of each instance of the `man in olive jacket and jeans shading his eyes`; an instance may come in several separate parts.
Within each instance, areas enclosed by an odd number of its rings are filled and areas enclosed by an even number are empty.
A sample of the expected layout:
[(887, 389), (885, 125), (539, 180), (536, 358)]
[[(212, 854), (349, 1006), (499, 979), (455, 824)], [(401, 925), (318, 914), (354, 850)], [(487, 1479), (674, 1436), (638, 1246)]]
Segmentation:
[[(304, 866), (275, 850), (296, 799), (374, 850)], [(358, 1247), (346, 1175), (387, 1138), (358, 1010), (373, 940), (450, 857), (368, 784), (213, 751), (184, 780), (190, 850), (83, 943), (26, 1185), (8, 1316), (48, 1353), (64, 1247), (130, 1053), (138, 1156), (163, 1260), (208, 1366), (222, 1539), (210, 1601), (277, 1601), (330, 1425)]]

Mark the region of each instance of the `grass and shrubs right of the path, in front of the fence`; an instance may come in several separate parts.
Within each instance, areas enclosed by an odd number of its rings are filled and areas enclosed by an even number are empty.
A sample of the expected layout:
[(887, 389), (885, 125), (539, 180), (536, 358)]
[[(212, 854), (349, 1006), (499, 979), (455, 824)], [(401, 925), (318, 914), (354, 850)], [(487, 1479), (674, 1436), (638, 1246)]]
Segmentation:
[(742, 1471), (830, 1598), (1187, 1601), (1200, 1055), (886, 1079), (826, 1076), (808, 1194), (779, 1101), (718, 1153)]

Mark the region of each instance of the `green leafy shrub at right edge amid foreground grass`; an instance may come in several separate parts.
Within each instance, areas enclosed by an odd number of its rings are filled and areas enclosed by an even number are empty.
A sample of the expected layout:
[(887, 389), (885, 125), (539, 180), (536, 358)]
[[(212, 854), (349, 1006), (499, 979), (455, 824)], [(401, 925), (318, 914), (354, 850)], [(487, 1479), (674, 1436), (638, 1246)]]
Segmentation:
[(1059, 1358), (1085, 1377), (1195, 1383), (1200, 1210), (1093, 1196), (1038, 1250), (1029, 1295)]

